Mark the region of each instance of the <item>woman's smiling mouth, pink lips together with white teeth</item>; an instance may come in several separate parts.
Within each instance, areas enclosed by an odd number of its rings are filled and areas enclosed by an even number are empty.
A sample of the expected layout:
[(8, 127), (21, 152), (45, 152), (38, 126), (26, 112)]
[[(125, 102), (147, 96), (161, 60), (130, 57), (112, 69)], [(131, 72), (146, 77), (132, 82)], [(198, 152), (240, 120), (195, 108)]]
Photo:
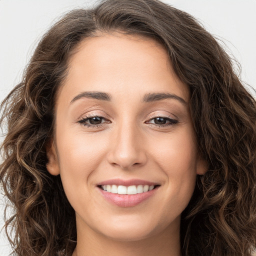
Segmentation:
[(110, 179), (97, 187), (107, 201), (120, 207), (132, 207), (150, 198), (159, 184), (141, 179)]

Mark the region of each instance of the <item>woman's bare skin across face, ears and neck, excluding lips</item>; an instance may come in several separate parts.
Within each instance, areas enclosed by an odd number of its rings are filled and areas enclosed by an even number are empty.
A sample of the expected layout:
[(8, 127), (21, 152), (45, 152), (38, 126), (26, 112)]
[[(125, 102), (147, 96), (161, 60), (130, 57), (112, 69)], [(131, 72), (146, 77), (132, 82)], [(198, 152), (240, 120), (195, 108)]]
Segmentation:
[[(75, 210), (73, 256), (180, 255), (180, 214), (206, 168), (196, 151), (188, 88), (166, 50), (152, 39), (102, 34), (82, 41), (69, 67), (56, 99), (47, 169), (60, 174)], [(111, 100), (77, 96), (87, 91)], [(143, 102), (147, 93), (174, 97)], [(86, 126), (88, 114), (104, 117), (100, 126)], [(160, 186), (138, 205), (120, 207), (97, 187), (112, 178)]]

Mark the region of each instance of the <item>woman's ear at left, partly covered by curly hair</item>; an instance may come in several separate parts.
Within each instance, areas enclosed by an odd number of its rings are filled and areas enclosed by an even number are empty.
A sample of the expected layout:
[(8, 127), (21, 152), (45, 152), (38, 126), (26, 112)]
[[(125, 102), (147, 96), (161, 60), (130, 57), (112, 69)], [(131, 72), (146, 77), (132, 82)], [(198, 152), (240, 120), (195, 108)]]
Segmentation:
[(58, 164), (58, 157), (56, 153), (55, 144), (53, 141), (50, 141), (46, 145), (46, 155), (48, 161), (46, 163), (46, 168), (51, 175), (58, 175), (59, 174), (59, 164)]

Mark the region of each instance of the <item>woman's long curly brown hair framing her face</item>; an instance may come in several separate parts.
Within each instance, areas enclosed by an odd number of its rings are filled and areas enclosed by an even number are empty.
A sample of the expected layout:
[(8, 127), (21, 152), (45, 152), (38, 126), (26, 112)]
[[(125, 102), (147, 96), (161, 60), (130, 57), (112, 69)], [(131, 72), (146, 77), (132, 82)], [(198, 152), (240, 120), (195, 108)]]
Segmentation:
[[(231, 58), (192, 16), (158, 0), (103, 0), (65, 14), (41, 38), (1, 104), (0, 182), (13, 206), (5, 229), (17, 256), (71, 255), (74, 210), (46, 170), (56, 91), (77, 45), (119, 31), (153, 38), (188, 85), (198, 152), (208, 163), (182, 212), (183, 256), (249, 256), (256, 246), (256, 102)], [(14, 235), (13, 235), (14, 234)]]

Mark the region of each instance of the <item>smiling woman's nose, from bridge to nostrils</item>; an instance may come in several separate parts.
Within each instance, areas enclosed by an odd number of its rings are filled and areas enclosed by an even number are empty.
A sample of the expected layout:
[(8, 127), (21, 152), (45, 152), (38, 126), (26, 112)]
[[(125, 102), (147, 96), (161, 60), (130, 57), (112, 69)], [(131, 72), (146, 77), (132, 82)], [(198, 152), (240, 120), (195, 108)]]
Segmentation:
[(145, 145), (135, 125), (120, 125), (113, 130), (112, 135), (107, 157), (111, 165), (129, 169), (145, 164), (147, 160)]

